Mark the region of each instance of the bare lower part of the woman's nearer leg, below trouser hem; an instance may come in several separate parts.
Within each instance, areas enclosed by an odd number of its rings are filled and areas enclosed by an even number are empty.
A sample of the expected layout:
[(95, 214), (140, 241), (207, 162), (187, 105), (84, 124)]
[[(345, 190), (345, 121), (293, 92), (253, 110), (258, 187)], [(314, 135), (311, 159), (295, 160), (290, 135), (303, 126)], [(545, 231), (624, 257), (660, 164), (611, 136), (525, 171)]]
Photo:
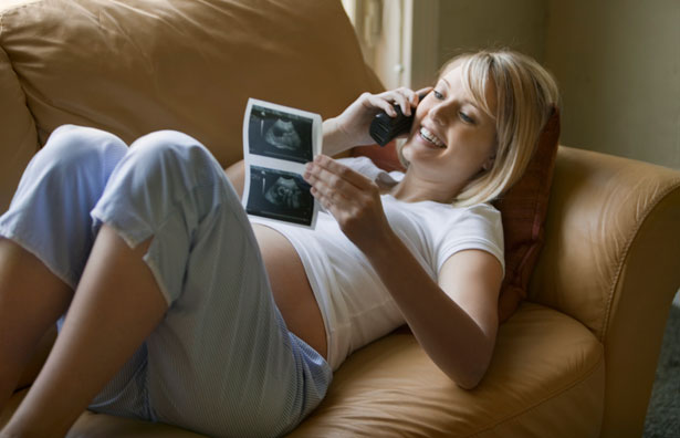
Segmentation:
[(54, 348), (3, 432), (64, 436), (158, 324), (167, 304), (143, 261), (147, 247), (102, 228)]

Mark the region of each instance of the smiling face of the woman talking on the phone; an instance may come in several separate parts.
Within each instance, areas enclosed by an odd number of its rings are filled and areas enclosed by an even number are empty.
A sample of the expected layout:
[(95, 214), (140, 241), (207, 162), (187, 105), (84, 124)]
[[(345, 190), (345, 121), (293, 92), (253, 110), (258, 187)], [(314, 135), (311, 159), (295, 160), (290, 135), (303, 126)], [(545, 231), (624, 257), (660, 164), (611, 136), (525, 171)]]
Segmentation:
[[(489, 112), (495, 114), (492, 81), (484, 93)], [(418, 105), (401, 152), (409, 171), (423, 182), (457, 192), (493, 164), (495, 145), (495, 119), (463, 85), (461, 66), (453, 65)]]

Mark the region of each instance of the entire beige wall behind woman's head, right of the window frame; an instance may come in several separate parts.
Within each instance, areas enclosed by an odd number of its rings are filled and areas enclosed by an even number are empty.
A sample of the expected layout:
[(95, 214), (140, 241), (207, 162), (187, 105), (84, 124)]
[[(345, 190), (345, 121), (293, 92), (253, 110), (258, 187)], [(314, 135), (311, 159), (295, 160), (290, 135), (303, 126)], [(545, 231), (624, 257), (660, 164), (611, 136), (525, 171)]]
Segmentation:
[(679, 0), (440, 0), (439, 60), (510, 46), (551, 70), (562, 144), (680, 168)]

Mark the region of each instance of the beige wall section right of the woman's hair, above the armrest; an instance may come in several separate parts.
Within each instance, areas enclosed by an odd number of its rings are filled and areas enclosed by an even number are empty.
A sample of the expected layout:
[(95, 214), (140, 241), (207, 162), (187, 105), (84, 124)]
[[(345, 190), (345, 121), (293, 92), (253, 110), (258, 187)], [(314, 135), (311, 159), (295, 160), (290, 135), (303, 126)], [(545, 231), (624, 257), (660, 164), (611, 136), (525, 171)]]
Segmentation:
[(680, 1), (551, 0), (562, 143), (680, 168)]

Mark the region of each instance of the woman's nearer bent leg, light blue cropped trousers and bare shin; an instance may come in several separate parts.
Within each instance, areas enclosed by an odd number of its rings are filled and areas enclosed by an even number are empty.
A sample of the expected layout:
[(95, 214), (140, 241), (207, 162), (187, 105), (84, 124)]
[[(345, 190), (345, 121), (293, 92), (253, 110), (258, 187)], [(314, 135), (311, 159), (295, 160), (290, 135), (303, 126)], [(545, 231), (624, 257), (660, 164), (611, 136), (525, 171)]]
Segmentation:
[[(44, 423), (46, 403), (54, 397), (63, 403), (60, 388), (73, 385), (79, 376), (73, 365), (85, 377), (79, 377), (79, 386), (87, 388), (70, 393), (77, 400), (61, 410), (62, 423), (54, 423), (57, 430), (67, 428), (77, 415), (76, 405), (115, 368), (102, 365), (97, 356), (106, 354), (108, 361), (119, 363), (158, 321), (164, 309), (156, 300), (158, 293), (170, 307), (135, 353), (142, 351), (142, 359), (124, 365), (129, 383), (114, 385), (115, 390), (105, 388), (92, 409), (222, 436), (280, 434), (314, 408), (331, 380), (331, 369), (318, 353), (285, 328), (239, 199), (202, 146), (171, 132), (136, 142), (92, 216), (97, 223), (106, 223), (101, 239), (106, 239), (111, 227), (139, 252), (125, 254), (121, 244), (112, 244), (117, 248), (112, 253), (93, 250), (55, 351), (8, 430), (31, 426), (31, 418)], [(139, 258), (157, 288), (138, 279), (140, 289), (125, 282), (106, 292), (107, 282), (121, 273), (107, 261), (135, 263), (125, 269), (148, 274), (137, 264)], [(92, 285), (87, 286), (90, 272)], [(128, 286), (142, 300), (140, 312), (130, 315), (137, 323), (129, 333), (116, 332), (126, 341), (102, 353), (108, 338), (97, 347), (100, 335), (125, 328), (128, 321), (125, 300), (122, 307), (109, 303), (121, 300), (122, 289), (127, 295)], [(74, 364), (74, 357), (85, 366)]]

